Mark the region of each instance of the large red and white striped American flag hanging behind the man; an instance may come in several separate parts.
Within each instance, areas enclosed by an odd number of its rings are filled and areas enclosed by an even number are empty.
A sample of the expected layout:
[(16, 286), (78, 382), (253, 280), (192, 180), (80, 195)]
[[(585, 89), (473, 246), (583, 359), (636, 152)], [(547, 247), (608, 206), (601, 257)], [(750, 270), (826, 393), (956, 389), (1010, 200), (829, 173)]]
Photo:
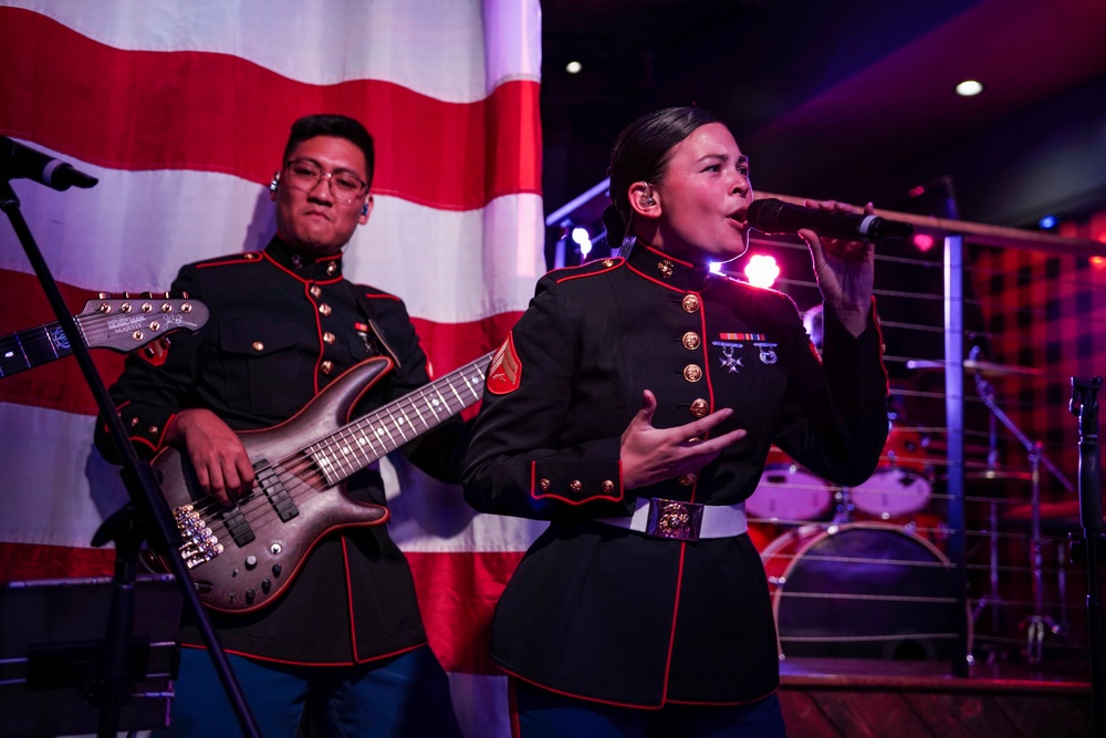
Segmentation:
[[(544, 271), (538, 0), (0, 1), (0, 133), (100, 178), (13, 187), (72, 313), (164, 291), (186, 263), (262, 248), (289, 126), (344, 113), (376, 138), (376, 207), (346, 276), (407, 302), (436, 375), (504, 336)], [(54, 320), (7, 219), (0, 333)], [(94, 351), (109, 384), (122, 356)], [(125, 501), (92, 449), (76, 362), (0, 378), (0, 579), (90, 576)], [(384, 465), (392, 532), (467, 735), (505, 735), (491, 610), (536, 523)]]

